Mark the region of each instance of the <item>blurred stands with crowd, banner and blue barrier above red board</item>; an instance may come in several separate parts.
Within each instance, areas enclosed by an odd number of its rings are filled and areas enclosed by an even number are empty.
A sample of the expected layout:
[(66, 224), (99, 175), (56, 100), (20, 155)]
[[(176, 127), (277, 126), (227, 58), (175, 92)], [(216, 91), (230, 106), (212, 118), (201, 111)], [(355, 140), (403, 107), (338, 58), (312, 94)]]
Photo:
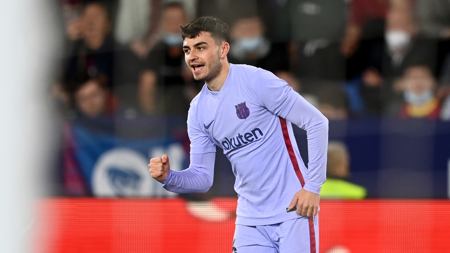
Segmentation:
[[(187, 111), (204, 82), (185, 66), (180, 25), (206, 15), (229, 24), (229, 62), (272, 71), (330, 120), (330, 140), (342, 143), (351, 169), (330, 176), (372, 198), (448, 195), (449, 1), (65, 0), (58, 8), (54, 195), (173, 196), (144, 164), (164, 153), (173, 169), (189, 164)], [(296, 133), (307, 163), (306, 133)], [(213, 189), (184, 197), (236, 196), (222, 151), (216, 160)]]

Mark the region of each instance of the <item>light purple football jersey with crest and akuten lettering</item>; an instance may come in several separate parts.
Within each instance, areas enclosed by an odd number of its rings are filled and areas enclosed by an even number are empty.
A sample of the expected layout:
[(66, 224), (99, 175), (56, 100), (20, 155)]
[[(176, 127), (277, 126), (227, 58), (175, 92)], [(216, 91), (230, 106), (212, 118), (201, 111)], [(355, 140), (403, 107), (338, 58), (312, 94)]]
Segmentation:
[[(314, 119), (304, 119), (302, 111), (295, 112), (299, 115), (297, 125), (303, 129), (307, 128), (305, 124), (310, 127), (309, 133), (307, 130), (310, 164), (309, 170), (306, 169), (292, 126), (285, 120), (294, 110), (294, 103), (312, 107), (271, 72), (234, 64), (230, 64), (219, 92), (211, 92), (205, 84), (191, 102), (188, 115), (191, 155), (215, 152), (216, 145), (224, 150), (236, 176), (236, 224), (261, 226), (300, 217), (296, 212), (286, 212), (295, 193), (302, 185), (305, 190), (320, 193), (325, 181), (326, 146), (322, 143), (316, 148), (314, 138), (310, 141), (314, 137), (311, 131)], [(327, 140), (328, 125), (323, 135), (322, 139)], [(171, 178), (165, 182), (168, 190), (171, 186), (167, 181), (175, 180)]]

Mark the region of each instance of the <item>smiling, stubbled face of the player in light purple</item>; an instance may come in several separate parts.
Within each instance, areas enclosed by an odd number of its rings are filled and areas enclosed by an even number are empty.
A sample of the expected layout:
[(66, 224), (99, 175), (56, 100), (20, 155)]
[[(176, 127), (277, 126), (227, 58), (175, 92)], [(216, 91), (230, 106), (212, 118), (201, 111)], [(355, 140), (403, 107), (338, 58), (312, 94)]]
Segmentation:
[(220, 74), (222, 69), (221, 54), (223, 54), (220, 49), (224, 43), (217, 45), (208, 32), (202, 32), (200, 36), (194, 39), (184, 39), (184, 60), (192, 71), (195, 80), (207, 82)]

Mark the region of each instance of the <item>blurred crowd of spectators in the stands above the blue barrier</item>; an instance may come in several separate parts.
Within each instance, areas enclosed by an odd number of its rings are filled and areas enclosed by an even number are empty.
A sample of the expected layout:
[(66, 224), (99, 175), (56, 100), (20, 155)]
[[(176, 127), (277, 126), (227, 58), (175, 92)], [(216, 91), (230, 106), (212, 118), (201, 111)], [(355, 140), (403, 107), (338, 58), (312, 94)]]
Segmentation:
[(54, 94), (71, 115), (186, 115), (203, 83), (180, 25), (230, 29), (230, 63), (273, 72), (330, 120), (450, 120), (450, 0), (62, 0)]

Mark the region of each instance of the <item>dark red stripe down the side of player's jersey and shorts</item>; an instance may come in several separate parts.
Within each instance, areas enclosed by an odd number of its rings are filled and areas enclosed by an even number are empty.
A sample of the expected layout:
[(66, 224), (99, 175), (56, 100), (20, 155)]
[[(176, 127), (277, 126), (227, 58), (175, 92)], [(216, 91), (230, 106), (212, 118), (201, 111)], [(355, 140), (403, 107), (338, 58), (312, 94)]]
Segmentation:
[[(305, 180), (303, 179), (302, 172), (300, 171), (300, 167), (298, 166), (297, 157), (294, 153), (294, 148), (292, 147), (291, 138), (289, 138), (288, 132), (288, 124), (285, 119), (279, 117), (281, 123), (281, 130), (283, 131), (284, 143), (286, 143), (286, 148), (288, 149), (289, 158), (291, 159), (291, 163), (294, 167), (295, 174), (297, 175), (298, 180), (300, 180), (300, 184), (305, 186)], [(314, 231), (314, 220), (313, 217), (308, 217), (308, 224), (310, 230), (310, 247), (311, 253), (316, 253), (315, 249), (315, 231)]]

